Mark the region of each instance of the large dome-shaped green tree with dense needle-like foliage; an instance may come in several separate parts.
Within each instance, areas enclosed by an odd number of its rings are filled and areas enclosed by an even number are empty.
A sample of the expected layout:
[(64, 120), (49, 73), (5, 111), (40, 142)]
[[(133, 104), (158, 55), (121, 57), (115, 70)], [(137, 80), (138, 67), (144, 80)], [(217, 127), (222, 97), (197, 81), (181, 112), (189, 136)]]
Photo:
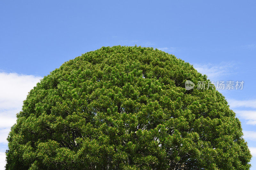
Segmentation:
[(175, 56), (102, 47), (36, 84), (8, 136), (6, 169), (248, 170), (240, 121), (210, 81)]

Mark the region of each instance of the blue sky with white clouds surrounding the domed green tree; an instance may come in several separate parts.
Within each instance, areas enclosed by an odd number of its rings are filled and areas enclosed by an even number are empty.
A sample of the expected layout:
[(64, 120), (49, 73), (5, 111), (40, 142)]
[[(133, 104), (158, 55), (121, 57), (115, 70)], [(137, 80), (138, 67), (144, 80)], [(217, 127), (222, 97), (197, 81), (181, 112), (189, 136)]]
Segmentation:
[(0, 169), (9, 128), (36, 82), (102, 46), (149, 46), (215, 81), (242, 122), (256, 170), (256, 1), (1, 1)]

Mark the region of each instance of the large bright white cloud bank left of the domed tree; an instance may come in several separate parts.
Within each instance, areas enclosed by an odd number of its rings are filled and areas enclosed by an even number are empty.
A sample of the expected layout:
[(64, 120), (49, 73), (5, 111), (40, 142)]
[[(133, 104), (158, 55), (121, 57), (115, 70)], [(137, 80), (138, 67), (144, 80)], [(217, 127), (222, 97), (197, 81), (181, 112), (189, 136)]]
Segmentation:
[(7, 142), (5, 139), (23, 100), (40, 79), (40, 76), (0, 72), (0, 143)]

